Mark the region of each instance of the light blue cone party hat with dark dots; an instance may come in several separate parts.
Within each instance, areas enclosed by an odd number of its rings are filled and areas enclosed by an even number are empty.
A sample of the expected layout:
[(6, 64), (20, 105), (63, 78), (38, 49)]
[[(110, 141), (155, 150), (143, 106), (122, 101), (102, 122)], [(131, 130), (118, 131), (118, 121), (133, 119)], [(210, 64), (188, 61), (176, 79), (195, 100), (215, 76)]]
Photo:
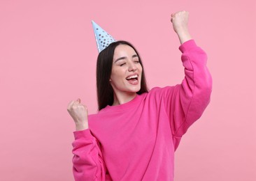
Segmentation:
[(92, 21), (92, 27), (94, 30), (94, 35), (97, 43), (97, 48), (99, 52), (108, 47), (111, 42), (115, 42), (115, 39), (109, 35), (104, 29), (101, 28), (98, 24)]

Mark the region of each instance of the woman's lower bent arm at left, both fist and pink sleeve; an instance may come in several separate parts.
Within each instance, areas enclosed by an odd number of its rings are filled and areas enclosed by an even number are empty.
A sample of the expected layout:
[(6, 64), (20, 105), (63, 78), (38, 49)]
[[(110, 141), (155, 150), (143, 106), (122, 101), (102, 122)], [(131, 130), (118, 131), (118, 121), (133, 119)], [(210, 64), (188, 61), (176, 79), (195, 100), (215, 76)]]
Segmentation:
[(68, 111), (76, 124), (75, 141), (72, 144), (75, 180), (106, 180), (106, 166), (99, 141), (88, 129), (87, 107), (78, 99), (69, 103)]

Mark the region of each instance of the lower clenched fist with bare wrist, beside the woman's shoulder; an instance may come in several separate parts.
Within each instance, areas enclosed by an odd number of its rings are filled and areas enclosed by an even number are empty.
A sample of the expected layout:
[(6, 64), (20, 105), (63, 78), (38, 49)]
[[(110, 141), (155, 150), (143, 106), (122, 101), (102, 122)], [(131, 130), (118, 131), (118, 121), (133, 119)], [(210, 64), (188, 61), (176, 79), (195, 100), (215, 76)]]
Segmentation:
[(68, 105), (67, 110), (76, 124), (77, 131), (88, 128), (87, 107), (80, 103), (80, 99), (76, 101), (71, 101)]

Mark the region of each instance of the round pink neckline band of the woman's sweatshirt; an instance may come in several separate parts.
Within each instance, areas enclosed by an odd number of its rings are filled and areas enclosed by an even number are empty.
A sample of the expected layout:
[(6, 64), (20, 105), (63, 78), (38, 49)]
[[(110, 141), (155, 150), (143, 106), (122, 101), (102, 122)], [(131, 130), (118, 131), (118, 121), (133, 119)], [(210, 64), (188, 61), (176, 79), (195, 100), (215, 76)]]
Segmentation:
[(132, 109), (134, 108), (133, 105), (136, 105), (136, 102), (139, 101), (139, 97), (141, 97), (141, 95), (136, 95), (133, 100), (130, 100), (129, 102), (126, 102), (124, 104), (119, 104), (115, 106), (107, 105), (104, 108), (104, 111), (124, 111), (127, 109)]

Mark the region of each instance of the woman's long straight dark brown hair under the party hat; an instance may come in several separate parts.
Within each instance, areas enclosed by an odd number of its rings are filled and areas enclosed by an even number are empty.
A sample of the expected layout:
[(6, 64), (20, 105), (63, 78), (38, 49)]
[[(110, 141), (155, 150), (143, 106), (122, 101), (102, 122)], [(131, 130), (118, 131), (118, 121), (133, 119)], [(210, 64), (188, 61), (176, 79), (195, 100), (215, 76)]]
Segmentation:
[[(117, 41), (108, 45), (106, 49), (102, 50), (99, 53), (97, 58), (97, 97), (98, 97), (98, 109), (101, 110), (107, 105), (112, 105), (114, 101), (114, 92), (109, 82), (111, 78), (111, 71), (112, 71), (112, 64), (113, 64), (113, 56), (115, 52), (115, 47), (118, 45), (129, 45), (131, 48), (134, 49), (136, 54), (138, 55), (138, 61), (141, 63), (143, 68), (143, 64), (141, 62), (141, 57), (139, 56), (138, 52), (136, 51), (135, 47), (131, 45), (131, 43), (127, 41)], [(141, 74), (141, 89), (137, 92), (138, 95), (142, 93), (148, 93), (148, 86), (145, 81), (145, 73), (144, 69)]]

